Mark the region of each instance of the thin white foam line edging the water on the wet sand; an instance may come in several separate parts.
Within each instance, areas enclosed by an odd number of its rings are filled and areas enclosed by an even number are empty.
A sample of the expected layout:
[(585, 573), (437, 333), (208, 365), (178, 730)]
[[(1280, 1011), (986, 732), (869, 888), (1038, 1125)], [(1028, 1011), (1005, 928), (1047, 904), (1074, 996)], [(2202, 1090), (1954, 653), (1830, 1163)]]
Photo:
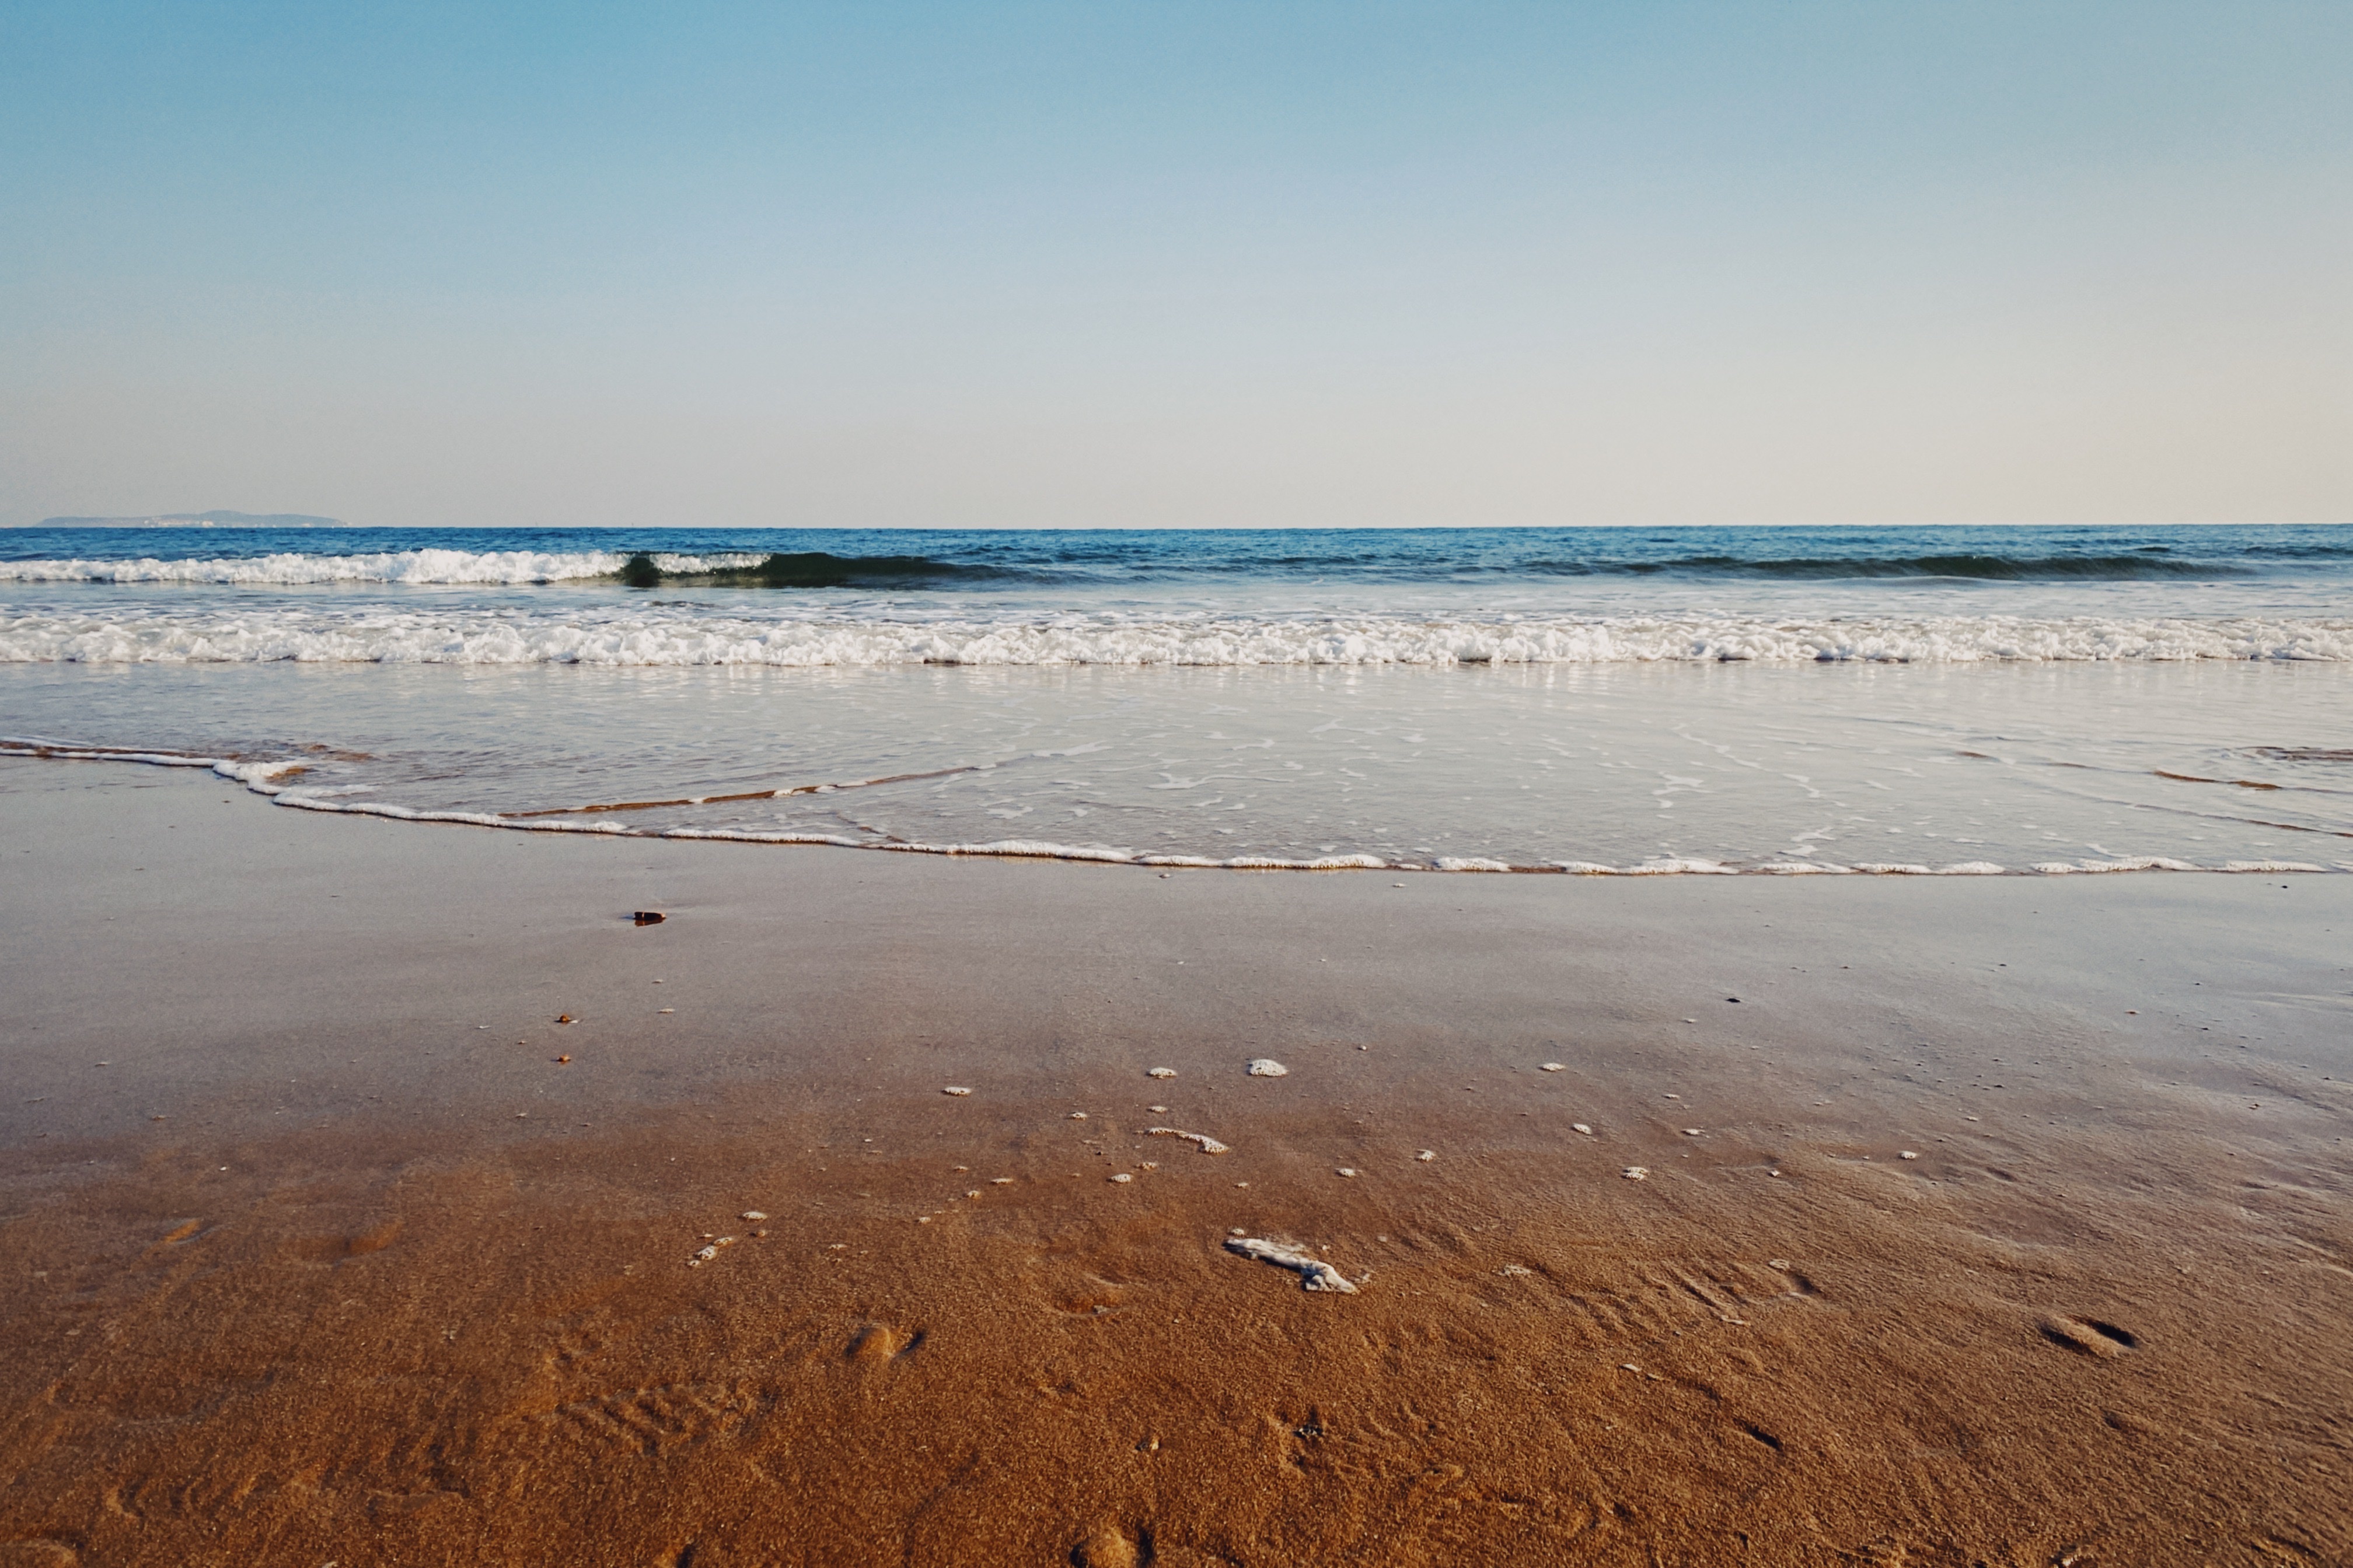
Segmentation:
[(579, 832), (612, 839), (708, 839), (722, 844), (824, 844), (833, 849), (871, 849), (901, 856), (976, 856), (1000, 860), (1092, 860), (1104, 865), (1155, 865), (1193, 870), (1280, 870), (1280, 872), (1452, 872), (1452, 875), (1553, 875), (1553, 877), (2073, 877), (2085, 872), (2219, 872), (2219, 875), (2325, 875), (2353, 872), (2353, 865), (2318, 865), (2311, 860), (2226, 860), (2221, 865), (2198, 865), (2165, 856), (2137, 856), (2115, 860), (2040, 860), (2024, 870), (2009, 870), (1991, 860), (1960, 860), (1955, 865), (1892, 865), (1857, 863), (1833, 865), (1819, 860), (1767, 860), (1765, 865), (1725, 865), (1704, 858), (1654, 858), (1635, 865), (1605, 865), (1598, 860), (1548, 860), (1541, 865), (1515, 865), (1508, 860), (1442, 856), (1428, 865), (1414, 860), (1384, 860), (1379, 856), (1318, 856), (1292, 860), (1282, 856), (1165, 856), (1104, 844), (1056, 844), (1052, 839), (995, 839), (988, 844), (922, 844), (911, 839), (854, 839), (833, 832), (793, 832), (760, 827), (628, 827), (626, 823), (574, 823), (548, 820), (544, 816), (515, 818), (494, 811), (433, 811), (416, 806), (393, 806), (388, 802), (334, 799), (334, 790), (306, 790), (278, 783), (287, 773), (299, 773), (311, 764), (242, 762), (235, 757), (195, 757), (188, 752), (153, 752), (108, 745), (75, 745), (66, 741), (42, 741), (33, 736), (0, 736), (0, 757), (33, 757), (47, 762), (136, 762), (146, 766), (212, 769), (221, 778), (245, 785), (254, 795), (268, 797), (273, 806), (294, 811), (322, 811), (329, 816), (372, 816), (395, 823), (442, 823), (456, 827), (504, 827), (506, 832)]

